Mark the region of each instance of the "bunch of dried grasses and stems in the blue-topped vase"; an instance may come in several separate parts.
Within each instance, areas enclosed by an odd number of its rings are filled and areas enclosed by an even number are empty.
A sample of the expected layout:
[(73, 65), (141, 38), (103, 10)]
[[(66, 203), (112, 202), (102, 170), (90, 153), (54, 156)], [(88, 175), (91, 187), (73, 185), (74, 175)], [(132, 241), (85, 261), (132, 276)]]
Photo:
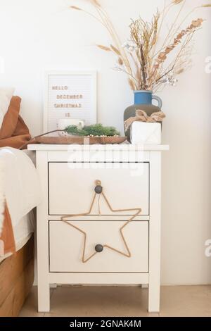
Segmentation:
[[(185, 18), (181, 19), (186, 0), (169, 0), (168, 3), (165, 1), (164, 8), (153, 15), (151, 22), (141, 17), (132, 20), (129, 25), (129, 40), (122, 44), (100, 0), (87, 1), (94, 7), (95, 13), (84, 11), (77, 6), (70, 8), (88, 13), (106, 27), (112, 43), (108, 46), (102, 44), (97, 46), (117, 56), (115, 69), (128, 75), (129, 86), (133, 90), (155, 91), (162, 88), (165, 82), (175, 84), (176, 76), (190, 67), (193, 35), (202, 26), (203, 18), (192, 20), (184, 29), (181, 27), (197, 8), (211, 7), (211, 4), (203, 4), (193, 8)], [(173, 8), (178, 9), (167, 31), (165, 19)]]

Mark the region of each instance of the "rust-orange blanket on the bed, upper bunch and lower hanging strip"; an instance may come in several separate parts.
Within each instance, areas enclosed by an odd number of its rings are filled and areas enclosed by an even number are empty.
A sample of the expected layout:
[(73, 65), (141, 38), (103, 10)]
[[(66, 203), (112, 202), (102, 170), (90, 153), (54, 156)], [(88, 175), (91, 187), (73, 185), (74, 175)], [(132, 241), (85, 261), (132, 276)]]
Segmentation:
[[(10, 106), (0, 129), (0, 147), (10, 146), (18, 149), (20, 146), (30, 140), (30, 132), (20, 117), (20, 102), (19, 96), (13, 96)], [(15, 241), (13, 235), (13, 227), (11, 216), (5, 202), (4, 208), (3, 229), (0, 232), (0, 255), (4, 250), (4, 254), (13, 253), (15, 251)]]

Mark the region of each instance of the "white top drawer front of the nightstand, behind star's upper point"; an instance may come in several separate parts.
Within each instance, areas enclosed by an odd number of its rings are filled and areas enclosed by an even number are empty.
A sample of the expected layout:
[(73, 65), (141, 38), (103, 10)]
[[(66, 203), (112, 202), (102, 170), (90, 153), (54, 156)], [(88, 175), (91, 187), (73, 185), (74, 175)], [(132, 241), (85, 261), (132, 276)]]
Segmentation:
[[(113, 209), (141, 208), (141, 215), (149, 215), (149, 163), (67, 162), (49, 163), (49, 215), (87, 213), (96, 180), (101, 181)], [(99, 211), (101, 215), (134, 215), (134, 211), (111, 212), (103, 196), (96, 196), (90, 214)]]

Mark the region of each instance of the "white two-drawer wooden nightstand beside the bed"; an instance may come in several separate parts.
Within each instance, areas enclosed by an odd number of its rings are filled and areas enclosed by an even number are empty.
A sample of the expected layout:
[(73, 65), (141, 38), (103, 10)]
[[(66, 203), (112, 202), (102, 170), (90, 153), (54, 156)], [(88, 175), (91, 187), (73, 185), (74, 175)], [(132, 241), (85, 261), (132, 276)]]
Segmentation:
[[(160, 186), (161, 152), (167, 145), (29, 145), (36, 151), (37, 170), (43, 196), (37, 207), (37, 265), (39, 311), (50, 310), (50, 284), (148, 284), (148, 311), (160, 309)], [(103, 192), (114, 209), (142, 208), (122, 232), (131, 252), (123, 256), (96, 244), (110, 244), (125, 252), (120, 227), (132, 211), (112, 213), (101, 198), (88, 216), (61, 217), (85, 213), (94, 195), (94, 182), (101, 180)]]

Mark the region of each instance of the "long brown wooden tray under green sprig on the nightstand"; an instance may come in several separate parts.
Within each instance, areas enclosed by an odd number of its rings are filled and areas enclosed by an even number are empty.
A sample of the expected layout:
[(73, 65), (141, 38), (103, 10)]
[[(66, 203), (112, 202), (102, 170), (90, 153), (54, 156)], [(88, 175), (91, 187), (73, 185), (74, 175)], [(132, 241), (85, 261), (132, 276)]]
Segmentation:
[(127, 137), (39, 137), (39, 144), (121, 144)]

